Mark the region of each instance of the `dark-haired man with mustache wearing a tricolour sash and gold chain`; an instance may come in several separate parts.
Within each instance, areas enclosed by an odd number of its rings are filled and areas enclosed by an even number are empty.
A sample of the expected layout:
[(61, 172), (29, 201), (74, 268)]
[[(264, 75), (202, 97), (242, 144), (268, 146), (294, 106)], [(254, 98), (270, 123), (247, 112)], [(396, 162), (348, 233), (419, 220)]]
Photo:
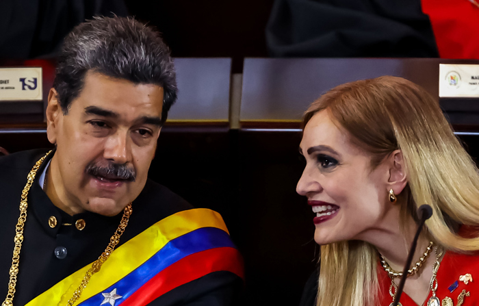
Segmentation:
[(229, 305), (242, 264), (219, 214), (148, 180), (177, 97), (159, 34), (73, 29), (47, 107), (53, 151), (0, 158), (2, 305)]

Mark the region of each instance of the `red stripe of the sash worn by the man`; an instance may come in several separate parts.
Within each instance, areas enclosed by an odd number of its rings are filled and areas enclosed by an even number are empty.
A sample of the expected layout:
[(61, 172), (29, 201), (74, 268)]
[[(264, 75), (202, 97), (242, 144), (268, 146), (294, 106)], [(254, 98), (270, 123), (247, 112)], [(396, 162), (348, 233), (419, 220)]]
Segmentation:
[(212, 248), (168, 266), (131, 294), (121, 306), (147, 305), (162, 294), (211, 272), (229, 271), (244, 278), (242, 257), (235, 248)]

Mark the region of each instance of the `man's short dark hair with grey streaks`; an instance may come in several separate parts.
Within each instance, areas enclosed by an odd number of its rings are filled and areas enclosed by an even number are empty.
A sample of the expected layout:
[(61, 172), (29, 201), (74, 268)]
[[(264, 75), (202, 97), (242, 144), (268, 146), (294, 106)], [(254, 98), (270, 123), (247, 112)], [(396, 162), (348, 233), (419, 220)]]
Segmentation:
[(176, 74), (168, 47), (157, 31), (133, 18), (95, 17), (66, 36), (53, 82), (64, 114), (79, 96), (88, 71), (134, 84), (161, 86), (161, 123), (177, 99)]

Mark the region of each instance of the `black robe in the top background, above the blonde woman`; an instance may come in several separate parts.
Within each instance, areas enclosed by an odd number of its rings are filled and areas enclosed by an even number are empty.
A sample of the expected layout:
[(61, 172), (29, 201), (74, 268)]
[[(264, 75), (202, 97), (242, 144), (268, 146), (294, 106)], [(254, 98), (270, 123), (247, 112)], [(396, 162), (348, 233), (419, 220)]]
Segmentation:
[(418, 0), (275, 0), (266, 27), (276, 58), (437, 58)]

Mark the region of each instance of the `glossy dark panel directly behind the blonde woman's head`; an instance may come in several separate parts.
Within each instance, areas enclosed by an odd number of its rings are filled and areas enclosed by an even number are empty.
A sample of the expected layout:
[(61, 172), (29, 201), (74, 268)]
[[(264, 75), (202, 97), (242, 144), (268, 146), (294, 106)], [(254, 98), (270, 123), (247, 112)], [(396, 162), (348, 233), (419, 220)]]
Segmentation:
[[(298, 121), (309, 104), (331, 88), (382, 75), (409, 79), (439, 100), (439, 64), (466, 63), (479, 64), (479, 60), (246, 58), (240, 120), (242, 123)], [(453, 115), (450, 117), (453, 124), (479, 125), (477, 100), (441, 99), (440, 103)], [(476, 112), (474, 118), (471, 111)]]

